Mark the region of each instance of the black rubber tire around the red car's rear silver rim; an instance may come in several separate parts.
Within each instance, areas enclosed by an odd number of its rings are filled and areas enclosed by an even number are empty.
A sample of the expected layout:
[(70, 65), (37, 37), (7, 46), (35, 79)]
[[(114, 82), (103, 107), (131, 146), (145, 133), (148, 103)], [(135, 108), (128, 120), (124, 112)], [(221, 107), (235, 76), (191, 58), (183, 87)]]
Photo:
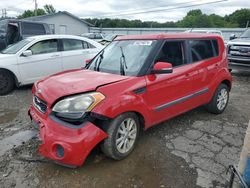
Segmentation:
[[(227, 100), (226, 100), (226, 102), (224, 101), (221, 108), (219, 108), (218, 99), (221, 95), (221, 92), (224, 92), (224, 91), (226, 91), (225, 94), (227, 96)], [(226, 84), (220, 84), (218, 86), (218, 88), (216, 89), (212, 100), (206, 105), (206, 109), (207, 109), (207, 111), (209, 111), (213, 114), (221, 114), (226, 109), (228, 101), (229, 101), (229, 88)]]

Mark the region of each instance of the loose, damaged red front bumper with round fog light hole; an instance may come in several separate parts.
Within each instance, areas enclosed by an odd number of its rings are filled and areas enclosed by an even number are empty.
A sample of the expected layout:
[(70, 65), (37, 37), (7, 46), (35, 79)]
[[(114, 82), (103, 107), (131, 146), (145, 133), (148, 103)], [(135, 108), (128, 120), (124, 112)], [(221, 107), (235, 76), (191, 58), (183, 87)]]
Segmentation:
[(81, 166), (91, 150), (108, 136), (91, 122), (73, 126), (67, 123), (62, 125), (53, 116), (42, 118), (33, 106), (29, 115), (39, 127), (42, 141), (39, 153), (65, 166)]

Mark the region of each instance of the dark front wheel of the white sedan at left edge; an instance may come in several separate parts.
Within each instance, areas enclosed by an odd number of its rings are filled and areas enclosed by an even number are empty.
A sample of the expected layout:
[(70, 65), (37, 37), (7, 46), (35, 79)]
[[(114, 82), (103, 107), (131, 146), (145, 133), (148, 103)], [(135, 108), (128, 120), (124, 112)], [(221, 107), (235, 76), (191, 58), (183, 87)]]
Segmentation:
[(15, 86), (15, 79), (13, 75), (6, 71), (0, 70), (0, 95), (6, 95), (10, 93)]

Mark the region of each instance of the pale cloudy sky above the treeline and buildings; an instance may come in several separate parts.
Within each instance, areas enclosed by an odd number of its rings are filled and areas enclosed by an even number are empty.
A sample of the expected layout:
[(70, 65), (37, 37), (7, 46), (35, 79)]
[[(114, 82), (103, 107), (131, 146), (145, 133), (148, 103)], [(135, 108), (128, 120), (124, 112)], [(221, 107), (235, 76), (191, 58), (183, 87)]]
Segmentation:
[[(224, 16), (237, 9), (250, 8), (249, 0), (37, 0), (37, 3), (38, 8), (52, 4), (57, 11), (68, 11), (81, 18), (108, 17), (158, 22), (181, 20), (192, 9)], [(34, 0), (0, 0), (0, 16), (2, 9), (7, 9), (7, 16), (15, 17), (24, 10), (34, 9), (34, 4)]]

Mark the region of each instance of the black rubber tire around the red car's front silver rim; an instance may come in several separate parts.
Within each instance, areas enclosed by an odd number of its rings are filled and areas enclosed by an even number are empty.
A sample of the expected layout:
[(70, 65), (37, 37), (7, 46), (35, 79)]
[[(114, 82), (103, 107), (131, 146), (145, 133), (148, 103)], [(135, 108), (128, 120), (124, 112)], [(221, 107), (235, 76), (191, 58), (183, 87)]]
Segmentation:
[[(120, 152), (116, 142), (118, 141), (119, 135), (120, 135), (120, 137), (122, 137), (121, 136), (122, 134), (118, 133), (118, 130), (122, 129), (122, 128), (120, 128), (120, 127), (122, 127), (122, 123), (123, 122), (125, 123), (129, 119), (133, 119), (135, 122), (135, 126), (133, 126), (133, 127), (136, 127), (136, 130), (137, 130), (136, 134), (134, 134), (135, 139), (134, 139), (133, 144), (131, 144), (131, 148), (128, 151)], [(118, 117), (116, 117), (112, 121), (108, 122), (105, 125), (104, 129), (106, 130), (106, 132), (108, 134), (108, 138), (102, 142), (101, 149), (106, 156), (113, 158), (115, 160), (122, 160), (133, 151), (133, 149), (137, 143), (139, 131), (140, 131), (139, 119), (135, 113), (128, 112), (128, 113), (119, 115)], [(127, 139), (129, 139), (129, 138), (127, 137)], [(124, 145), (125, 145), (125, 143), (124, 143)], [(120, 150), (121, 150), (121, 148), (120, 148)]]

